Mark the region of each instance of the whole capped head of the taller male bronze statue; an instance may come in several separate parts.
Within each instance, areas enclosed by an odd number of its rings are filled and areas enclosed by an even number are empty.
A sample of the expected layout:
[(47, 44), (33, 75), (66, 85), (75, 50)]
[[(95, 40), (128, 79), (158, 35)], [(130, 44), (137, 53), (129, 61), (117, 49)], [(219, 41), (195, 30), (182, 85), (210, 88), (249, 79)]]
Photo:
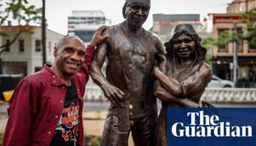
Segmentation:
[(132, 26), (142, 26), (148, 18), (150, 0), (126, 0), (123, 7), (123, 16)]

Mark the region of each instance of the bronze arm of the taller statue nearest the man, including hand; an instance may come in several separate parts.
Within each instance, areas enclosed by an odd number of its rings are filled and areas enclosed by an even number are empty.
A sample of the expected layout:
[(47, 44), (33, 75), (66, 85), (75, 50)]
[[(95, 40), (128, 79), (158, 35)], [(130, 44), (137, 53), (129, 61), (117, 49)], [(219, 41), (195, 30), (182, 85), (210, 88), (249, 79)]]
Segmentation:
[[(108, 29), (103, 35), (110, 35)], [(102, 88), (105, 97), (116, 105), (116, 107), (122, 107), (121, 102), (124, 101), (124, 93), (120, 89), (111, 85), (101, 71), (105, 57), (108, 53), (108, 43), (109, 39), (107, 39), (106, 42), (102, 42), (102, 44), (98, 45), (94, 53), (94, 59), (90, 66), (90, 74), (92, 80), (94, 80), (94, 82), (99, 85), (100, 88)]]

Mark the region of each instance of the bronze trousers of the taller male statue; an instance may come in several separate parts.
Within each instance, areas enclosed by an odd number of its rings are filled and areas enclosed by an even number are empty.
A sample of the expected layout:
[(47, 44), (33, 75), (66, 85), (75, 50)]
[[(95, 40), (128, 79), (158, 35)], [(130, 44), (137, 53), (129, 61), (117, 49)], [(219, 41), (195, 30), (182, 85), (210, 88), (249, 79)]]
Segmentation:
[[(130, 131), (132, 131), (132, 139), (135, 146), (154, 145), (154, 128), (157, 124), (157, 113), (143, 118), (129, 119), (126, 123), (121, 120), (118, 115), (109, 112), (105, 121), (101, 146), (128, 146)], [(127, 132), (120, 131), (122, 128), (120, 126), (128, 125)]]

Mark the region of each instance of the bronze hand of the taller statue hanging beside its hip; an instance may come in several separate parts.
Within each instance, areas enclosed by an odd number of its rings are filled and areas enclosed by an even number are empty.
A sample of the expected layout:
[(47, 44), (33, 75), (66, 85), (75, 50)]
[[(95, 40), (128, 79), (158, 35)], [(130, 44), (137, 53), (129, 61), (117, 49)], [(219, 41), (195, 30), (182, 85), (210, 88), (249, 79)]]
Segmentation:
[(122, 107), (124, 102), (124, 92), (113, 85), (102, 85), (102, 91), (106, 98), (110, 100), (116, 107)]

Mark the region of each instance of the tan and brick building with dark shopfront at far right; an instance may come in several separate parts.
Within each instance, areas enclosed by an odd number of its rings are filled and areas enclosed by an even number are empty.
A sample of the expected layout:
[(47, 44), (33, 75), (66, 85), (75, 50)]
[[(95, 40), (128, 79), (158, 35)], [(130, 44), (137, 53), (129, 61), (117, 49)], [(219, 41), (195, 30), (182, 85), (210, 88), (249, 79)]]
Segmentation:
[[(212, 37), (218, 38), (224, 31), (233, 31), (236, 25), (238, 34), (246, 34), (246, 23), (241, 22), (241, 13), (209, 14), (208, 22), (212, 23)], [(213, 72), (218, 77), (233, 80), (234, 42), (213, 47)], [(246, 40), (237, 42), (238, 80), (246, 80), (250, 86), (256, 84), (256, 46)]]

